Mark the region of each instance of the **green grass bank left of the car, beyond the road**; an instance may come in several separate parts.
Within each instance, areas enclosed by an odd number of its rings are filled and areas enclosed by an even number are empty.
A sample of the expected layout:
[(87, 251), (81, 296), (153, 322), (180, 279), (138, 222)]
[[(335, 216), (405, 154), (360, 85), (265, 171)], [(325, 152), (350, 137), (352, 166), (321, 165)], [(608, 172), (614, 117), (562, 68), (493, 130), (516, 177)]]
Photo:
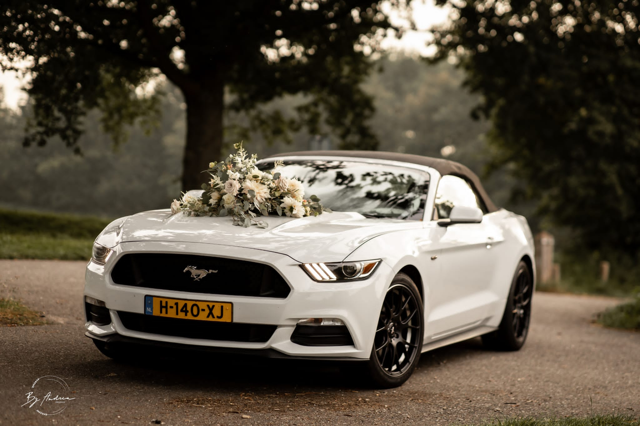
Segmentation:
[(111, 220), (0, 209), (0, 259), (87, 260)]

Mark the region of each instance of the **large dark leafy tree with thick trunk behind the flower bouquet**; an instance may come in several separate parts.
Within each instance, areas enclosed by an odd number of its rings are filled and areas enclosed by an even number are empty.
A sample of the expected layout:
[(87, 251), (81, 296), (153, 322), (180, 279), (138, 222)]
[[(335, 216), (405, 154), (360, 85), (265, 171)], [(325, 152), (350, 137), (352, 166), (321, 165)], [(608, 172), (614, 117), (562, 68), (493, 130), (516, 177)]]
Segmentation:
[[(225, 109), (247, 112), (271, 139), (325, 123), (344, 148), (377, 144), (360, 83), (390, 24), (371, 1), (7, 0), (0, 27), (0, 54), (11, 61), (3, 66), (33, 75), (26, 144), (58, 135), (77, 148), (90, 109), (102, 111), (116, 142), (125, 125), (152, 125), (159, 93), (135, 89), (157, 70), (187, 106), (184, 189), (199, 187), (199, 172), (220, 158)], [(291, 93), (308, 95), (296, 116), (260, 110)]]

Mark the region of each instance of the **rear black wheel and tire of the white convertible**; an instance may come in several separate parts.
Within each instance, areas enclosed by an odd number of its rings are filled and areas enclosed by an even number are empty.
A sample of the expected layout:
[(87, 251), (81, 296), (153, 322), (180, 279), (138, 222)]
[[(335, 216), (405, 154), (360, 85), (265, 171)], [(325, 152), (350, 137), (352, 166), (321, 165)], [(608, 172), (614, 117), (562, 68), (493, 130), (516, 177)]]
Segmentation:
[(511, 280), (507, 305), (498, 330), (483, 335), (484, 347), (493, 351), (517, 351), (524, 345), (531, 323), (533, 281), (529, 266), (523, 261)]

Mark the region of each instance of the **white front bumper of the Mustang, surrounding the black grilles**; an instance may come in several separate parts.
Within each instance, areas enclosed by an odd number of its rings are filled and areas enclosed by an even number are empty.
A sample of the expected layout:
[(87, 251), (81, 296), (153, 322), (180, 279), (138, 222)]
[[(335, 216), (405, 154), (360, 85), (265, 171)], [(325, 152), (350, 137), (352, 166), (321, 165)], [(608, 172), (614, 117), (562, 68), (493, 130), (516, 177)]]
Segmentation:
[[(157, 345), (183, 345), (214, 351), (249, 351), (254, 354), (282, 354), (284, 357), (335, 358), (366, 360), (371, 354), (380, 307), (393, 270), (381, 262), (378, 270), (367, 280), (355, 282), (315, 282), (300, 268), (300, 264), (283, 254), (252, 248), (229, 247), (204, 243), (129, 242), (120, 243), (111, 259), (102, 266), (95, 262), (87, 265), (84, 294), (102, 300), (109, 309), (111, 323), (98, 325), (88, 321), (86, 335), (103, 341), (143, 342)], [(287, 298), (228, 296), (205, 293), (186, 293), (116, 285), (111, 270), (122, 255), (136, 252), (179, 253), (212, 255), (232, 259), (250, 260), (269, 264), (275, 268), (291, 292)], [(332, 261), (335, 259), (322, 259)], [(341, 260), (341, 259), (340, 259)], [(239, 279), (242, 279), (239, 277)], [(145, 296), (218, 301), (233, 303), (234, 323), (268, 324), (275, 326), (266, 342), (234, 342), (230, 340), (195, 339), (156, 333), (144, 333), (125, 328), (118, 311), (144, 314)], [(291, 335), (300, 319), (309, 317), (337, 318), (346, 324), (353, 345), (303, 346), (291, 341)], [(197, 320), (182, 320), (184, 326)], [(200, 322), (200, 321), (198, 321)], [(322, 326), (319, 326), (321, 328)], [(269, 356), (269, 355), (268, 355)], [(272, 355), (271, 355), (272, 356)]]

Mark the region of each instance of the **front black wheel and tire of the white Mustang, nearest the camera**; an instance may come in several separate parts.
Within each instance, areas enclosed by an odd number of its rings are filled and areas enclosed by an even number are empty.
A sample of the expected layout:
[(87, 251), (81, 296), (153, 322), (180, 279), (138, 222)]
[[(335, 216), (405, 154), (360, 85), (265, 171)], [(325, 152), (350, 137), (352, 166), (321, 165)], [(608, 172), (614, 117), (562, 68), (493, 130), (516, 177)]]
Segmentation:
[(394, 388), (413, 373), (422, 352), (423, 312), (418, 287), (408, 275), (396, 275), (380, 310), (367, 363), (366, 371), (374, 386)]

